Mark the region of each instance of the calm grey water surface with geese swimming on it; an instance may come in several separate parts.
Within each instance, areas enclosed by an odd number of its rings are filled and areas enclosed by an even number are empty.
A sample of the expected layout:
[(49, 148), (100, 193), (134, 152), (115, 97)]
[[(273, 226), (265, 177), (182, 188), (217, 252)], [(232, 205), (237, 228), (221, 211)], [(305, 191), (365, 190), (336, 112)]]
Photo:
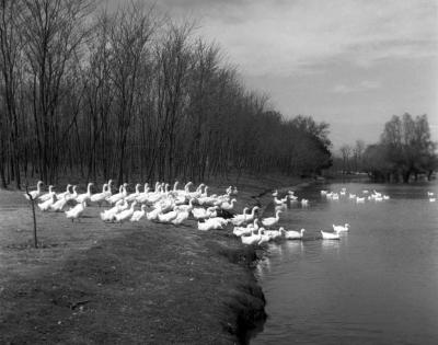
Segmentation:
[[(377, 189), (382, 203), (328, 202), (320, 189)], [(438, 344), (438, 203), (416, 186), (332, 184), (297, 195), (279, 226), (303, 241), (269, 244), (257, 276), (267, 300), (264, 331), (251, 344)], [(341, 241), (319, 230), (348, 222)]]

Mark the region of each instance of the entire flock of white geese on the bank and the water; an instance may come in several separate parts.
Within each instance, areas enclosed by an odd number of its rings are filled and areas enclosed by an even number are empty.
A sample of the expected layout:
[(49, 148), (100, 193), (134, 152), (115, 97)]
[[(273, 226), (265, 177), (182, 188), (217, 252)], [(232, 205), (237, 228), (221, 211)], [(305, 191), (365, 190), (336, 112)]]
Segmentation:
[[(309, 206), (309, 200), (301, 200), (295, 195), (293, 191), (288, 191), (283, 198), (279, 198), (278, 191), (273, 193), (275, 216), (267, 218), (258, 217), (260, 207), (244, 207), (242, 214), (233, 211), (237, 203), (238, 189), (229, 186), (224, 194), (208, 194), (208, 186), (199, 184), (194, 191), (193, 183), (188, 182), (183, 188), (178, 188), (175, 182), (173, 188), (168, 183), (157, 182), (153, 191), (146, 183), (140, 192), (141, 185), (137, 184), (134, 193), (127, 192), (127, 184), (118, 188), (118, 193), (113, 194), (113, 181), (110, 180), (102, 187), (101, 193), (92, 194), (93, 183), (89, 183), (87, 192), (78, 194), (77, 186), (68, 184), (62, 193), (55, 193), (54, 186), (48, 187), (48, 192), (42, 189), (43, 182), (37, 183), (36, 191), (24, 194), (27, 199), (34, 200), (42, 211), (65, 211), (71, 221), (79, 220), (91, 204), (111, 206), (100, 212), (100, 218), (105, 222), (140, 221), (142, 218), (160, 223), (172, 223), (180, 226), (187, 219), (195, 219), (197, 228), (201, 231), (223, 229), (228, 225), (233, 227), (233, 234), (239, 237), (243, 244), (263, 244), (277, 240), (301, 240), (304, 229), (286, 230), (284, 227), (273, 229), (279, 221), (279, 216), (288, 208), (288, 203), (299, 203), (302, 207)], [(321, 191), (321, 196), (327, 200), (349, 199), (357, 204), (366, 202), (383, 202), (390, 197), (377, 191), (361, 191), (360, 195), (348, 193), (345, 187), (339, 192)], [(434, 193), (428, 192), (430, 202), (435, 202)], [(73, 205), (65, 210), (68, 205)], [(138, 209), (137, 209), (138, 207)], [(320, 231), (323, 240), (339, 240), (339, 233), (348, 231), (349, 225), (333, 225), (333, 232)]]

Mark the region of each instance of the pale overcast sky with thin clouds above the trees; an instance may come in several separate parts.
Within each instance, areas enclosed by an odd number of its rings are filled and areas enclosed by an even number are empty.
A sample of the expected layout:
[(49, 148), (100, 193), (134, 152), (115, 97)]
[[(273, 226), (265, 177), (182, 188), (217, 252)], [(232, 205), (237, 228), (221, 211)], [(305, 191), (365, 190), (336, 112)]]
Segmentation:
[(405, 112), (438, 140), (437, 0), (158, 0), (200, 19), (250, 89), (331, 125), (335, 147), (378, 140)]

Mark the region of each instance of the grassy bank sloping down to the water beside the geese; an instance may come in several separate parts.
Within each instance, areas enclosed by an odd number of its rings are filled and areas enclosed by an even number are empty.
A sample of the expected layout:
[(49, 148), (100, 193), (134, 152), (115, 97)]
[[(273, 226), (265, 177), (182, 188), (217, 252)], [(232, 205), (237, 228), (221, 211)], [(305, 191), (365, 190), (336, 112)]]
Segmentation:
[[(235, 209), (298, 182), (244, 177)], [(211, 181), (210, 192), (229, 184)], [(233, 344), (264, 318), (255, 251), (230, 228), (107, 225), (99, 210), (74, 223), (38, 212), (35, 250), (27, 202), (0, 192), (0, 343)]]

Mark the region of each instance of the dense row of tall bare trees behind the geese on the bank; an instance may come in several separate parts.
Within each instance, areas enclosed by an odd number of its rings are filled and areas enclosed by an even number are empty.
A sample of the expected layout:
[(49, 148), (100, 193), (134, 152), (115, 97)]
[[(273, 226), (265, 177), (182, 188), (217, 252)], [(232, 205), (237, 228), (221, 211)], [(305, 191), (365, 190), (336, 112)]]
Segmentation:
[(153, 7), (0, 0), (0, 182), (314, 173), (327, 125), (285, 120), (220, 49)]

